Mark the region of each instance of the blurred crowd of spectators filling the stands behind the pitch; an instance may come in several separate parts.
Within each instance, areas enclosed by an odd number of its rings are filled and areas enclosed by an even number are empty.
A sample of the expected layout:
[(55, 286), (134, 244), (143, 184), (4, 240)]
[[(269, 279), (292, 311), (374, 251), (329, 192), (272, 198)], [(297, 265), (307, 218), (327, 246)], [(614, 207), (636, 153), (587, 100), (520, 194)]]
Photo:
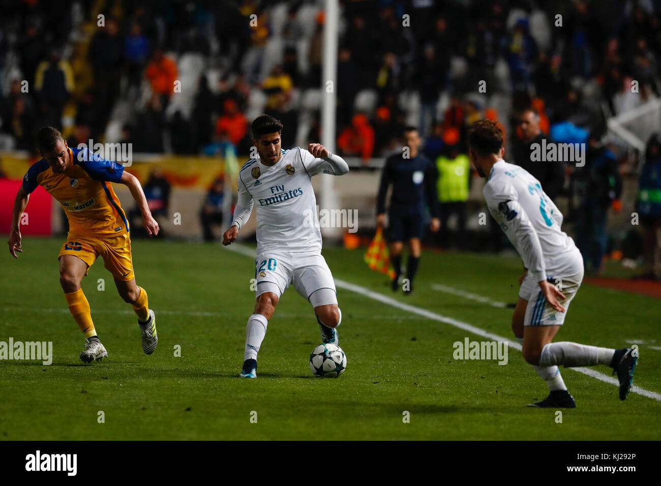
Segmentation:
[[(584, 246), (599, 266), (625, 157), (604, 143), (605, 120), (659, 95), (661, 4), (340, 5), (336, 150), (368, 165), (399, 150), (412, 124), (424, 153), (451, 173), (467, 165), (467, 127), (485, 117), (501, 122), (508, 160), (522, 165), (541, 137), (584, 142), (583, 170), (556, 166), (540, 177), (570, 198), (570, 219), (594, 227)], [(262, 112), (284, 123), (284, 147), (317, 142), (324, 24), (322, 0), (5, 0), (0, 148), (32, 149), (34, 130), (48, 123), (69, 145), (92, 138), (130, 142), (134, 152), (211, 155), (231, 145), (245, 154)], [(635, 171), (658, 178), (656, 169)], [(459, 193), (439, 198), (455, 203)], [(447, 208), (465, 220), (460, 206)]]

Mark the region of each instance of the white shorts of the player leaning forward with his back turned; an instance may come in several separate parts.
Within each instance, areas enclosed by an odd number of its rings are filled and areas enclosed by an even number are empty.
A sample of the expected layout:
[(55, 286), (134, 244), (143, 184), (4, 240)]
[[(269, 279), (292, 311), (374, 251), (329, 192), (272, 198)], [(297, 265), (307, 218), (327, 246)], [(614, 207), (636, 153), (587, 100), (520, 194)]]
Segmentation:
[(548, 304), (539, 288), (539, 284), (535, 282), (530, 274), (527, 274), (519, 290), (519, 297), (528, 301), (528, 305), (525, 307), (524, 326), (563, 325), (564, 316), (569, 310), (569, 304), (583, 280), (583, 268), (581, 266), (580, 272), (572, 276), (556, 277), (547, 275), (547, 277), (547, 281), (555, 285), (564, 294), (564, 300), (558, 300), (558, 303), (564, 307), (564, 312), (559, 312)]

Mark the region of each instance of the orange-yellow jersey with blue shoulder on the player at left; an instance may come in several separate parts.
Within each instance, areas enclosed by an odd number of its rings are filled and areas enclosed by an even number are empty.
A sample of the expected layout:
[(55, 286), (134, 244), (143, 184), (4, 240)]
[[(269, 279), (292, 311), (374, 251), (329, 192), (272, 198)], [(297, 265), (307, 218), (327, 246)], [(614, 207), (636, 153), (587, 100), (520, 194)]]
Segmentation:
[(42, 186), (62, 205), (69, 231), (95, 236), (123, 235), (129, 231), (126, 214), (112, 190), (124, 166), (91, 153), (87, 148), (69, 147), (71, 166), (54, 173), (41, 159), (32, 164), (23, 178), (23, 190), (30, 194)]

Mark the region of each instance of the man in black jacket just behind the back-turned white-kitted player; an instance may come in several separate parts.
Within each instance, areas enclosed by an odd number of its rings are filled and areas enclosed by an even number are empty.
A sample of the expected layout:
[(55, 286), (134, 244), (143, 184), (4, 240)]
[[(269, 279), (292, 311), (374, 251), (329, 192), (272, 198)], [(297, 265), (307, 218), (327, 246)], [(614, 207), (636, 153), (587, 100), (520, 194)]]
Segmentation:
[(516, 133), (514, 134), (514, 140), (512, 141), (514, 161), (508, 159), (508, 162), (515, 163), (528, 171), (530, 175), (539, 181), (547, 196), (555, 202), (558, 193), (564, 185), (564, 162), (531, 160), (531, 145), (533, 143), (539, 143), (541, 146), (543, 139), (546, 139), (546, 145), (554, 143), (551, 137), (545, 136), (539, 128), (539, 114), (537, 110), (534, 108), (524, 110), (519, 117), (519, 127), (522, 138), (518, 138)]

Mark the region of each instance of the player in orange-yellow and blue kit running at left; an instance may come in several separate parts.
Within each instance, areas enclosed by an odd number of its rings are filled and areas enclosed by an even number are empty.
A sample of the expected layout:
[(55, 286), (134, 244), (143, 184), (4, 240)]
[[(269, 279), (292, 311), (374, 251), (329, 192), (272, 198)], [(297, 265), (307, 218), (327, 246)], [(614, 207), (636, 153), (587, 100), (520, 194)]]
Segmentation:
[(22, 253), (19, 222), (30, 192), (36, 186), (46, 189), (65, 210), (69, 234), (59, 251), (59, 282), (64, 297), (81, 331), (87, 338), (81, 352), (84, 362), (100, 361), (108, 356), (98, 339), (89, 303), (81, 281), (98, 256), (112, 274), (120, 296), (133, 306), (142, 335), (142, 348), (151, 354), (158, 343), (156, 317), (147, 305), (147, 292), (136, 285), (131, 258), (129, 227), (111, 182), (128, 186), (140, 208), (147, 233), (157, 235), (159, 225), (151, 217), (145, 194), (136, 177), (124, 172), (115, 161), (103, 159), (87, 148), (69, 148), (58, 130), (41, 128), (37, 147), (44, 157), (26, 173), (14, 202), (9, 235), (9, 253)]

